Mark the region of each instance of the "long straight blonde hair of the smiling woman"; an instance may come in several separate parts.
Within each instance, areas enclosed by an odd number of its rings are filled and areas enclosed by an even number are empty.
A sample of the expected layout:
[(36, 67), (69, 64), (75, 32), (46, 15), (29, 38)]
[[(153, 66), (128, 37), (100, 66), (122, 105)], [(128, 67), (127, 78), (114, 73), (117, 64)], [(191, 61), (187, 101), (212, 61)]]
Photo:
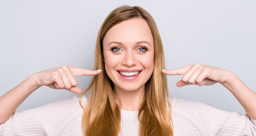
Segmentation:
[[(98, 32), (94, 69), (102, 73), (92, 78), (80, 96), (84, 109), (82, 130), (84, 135), (118, 135), (121, 130), (120, 110), (115, 103), (113, 82), (105, 71), (102, 40), (114, 25), (132, 18), (146, 20), (154, 38), (154, 71), (146, 82), (146, 90), (139, 109), (140, 135), (173, 135), (171, 105), (168, 97), (163, 44), (152, 16), (139, 6), (121, 6), (110, 12)], [(85, 107), (81, 98), (92, 89)]]

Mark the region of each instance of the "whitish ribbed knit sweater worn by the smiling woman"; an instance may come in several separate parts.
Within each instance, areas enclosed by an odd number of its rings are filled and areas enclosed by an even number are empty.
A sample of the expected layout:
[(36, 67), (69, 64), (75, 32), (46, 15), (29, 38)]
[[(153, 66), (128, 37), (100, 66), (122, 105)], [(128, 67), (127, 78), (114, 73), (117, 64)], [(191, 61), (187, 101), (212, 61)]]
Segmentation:
[[(171, 105), (174, 135), (256, 135), (256, 120), (246, 115), (183, 99), (172, 99)], [(81, 119), (79, 98), (73, 97), (15, 112), (0, 125), (0, 135), (82, 135)], [(138, 135), (138, 112), (121, 110), (121, 127), (119, 135)]]

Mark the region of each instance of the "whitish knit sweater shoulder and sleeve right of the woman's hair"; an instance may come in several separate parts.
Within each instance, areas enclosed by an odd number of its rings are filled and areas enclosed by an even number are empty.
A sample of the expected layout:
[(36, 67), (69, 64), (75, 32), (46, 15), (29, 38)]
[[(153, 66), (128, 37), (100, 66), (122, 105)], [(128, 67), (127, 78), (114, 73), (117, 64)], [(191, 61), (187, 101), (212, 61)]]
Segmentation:
[(172, 119), (175, 135), (256, 135), (256, 121), (246, 114), (195, 101), (172, 99)]

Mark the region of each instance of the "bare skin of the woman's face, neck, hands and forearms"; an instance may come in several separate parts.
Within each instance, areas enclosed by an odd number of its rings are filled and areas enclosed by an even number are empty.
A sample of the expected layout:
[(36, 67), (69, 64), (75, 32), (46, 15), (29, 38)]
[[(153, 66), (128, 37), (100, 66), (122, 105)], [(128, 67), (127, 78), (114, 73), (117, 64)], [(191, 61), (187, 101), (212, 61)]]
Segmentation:
[[(138, 28), (139, 27), (139, 28)], [(115, 29), (116, 28), (116, 29)], [(144, 86), (154, 67), (154, 45), (148, 26), (142, 19), (131, 19), (110, 29), (104, 39), (104, 61), (108, 76), (114, 82), (117, 104), (121, 109), (138, 110), (144, 95)], [(138, 34), (138, 35), (137, 35)], [(116, 41), (110, 44), (110, 42)], [(141, 42), (141, 41), (147, 41)], [(121, 43), (121, 44), (120, 44)], [(112, 46), (112, 48), (110, 48)], [(114, 48), (119, 47), (119, 49)], [(143, 52), (143, 48), (147, 48)], [(114, 52), (113, 52), (114, 51)], [(117, 70), (139, 70), (137, 78), (122, 78)], [(8, 120), (15, 109), (36, 89), (48, 86), (81, 94), (76, 75), (97, 75), (101, 70), (61, 66), (29, 76), (26, 80), (0, 97), (0, 124)], [(183, 75), (178, 87), (188, 84), (199, 86), (221, 83), (241, 103), (248, 116), (256, 119), (256, 94), (230, 71), (217, 67), (192, 64), (176, 70), (163, 70), (167, 75)], [(121, 78), (120, 78), (121, 77)], [(18, 94), (18, 95), (17, 95)]]

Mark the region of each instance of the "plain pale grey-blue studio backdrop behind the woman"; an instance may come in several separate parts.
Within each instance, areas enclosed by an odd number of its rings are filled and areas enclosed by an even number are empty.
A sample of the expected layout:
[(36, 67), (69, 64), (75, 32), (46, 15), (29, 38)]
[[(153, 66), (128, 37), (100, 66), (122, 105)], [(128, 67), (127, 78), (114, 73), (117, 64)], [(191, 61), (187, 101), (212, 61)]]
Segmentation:
[[(154, 17), (162, 36), (167, 69), (201, 63), (233, 71), (256, 91), (256, 1), (0, 1), (0, 95), (27, 76), (62, 65), (94, 67), (98, 29), (114, 8), (141, 6)], [(77, 76), (84, 90), (92, 76)], [(176, 87), (171, 97), (200, 101), (225, 111), (245, 113), (221, 84)], [(19, 94), (16, 94), (19, 95)], [(41, 87), (18, 111), (68, 99), (65, 90)], [(256, 104), (255, 104), (256, 105)]]

